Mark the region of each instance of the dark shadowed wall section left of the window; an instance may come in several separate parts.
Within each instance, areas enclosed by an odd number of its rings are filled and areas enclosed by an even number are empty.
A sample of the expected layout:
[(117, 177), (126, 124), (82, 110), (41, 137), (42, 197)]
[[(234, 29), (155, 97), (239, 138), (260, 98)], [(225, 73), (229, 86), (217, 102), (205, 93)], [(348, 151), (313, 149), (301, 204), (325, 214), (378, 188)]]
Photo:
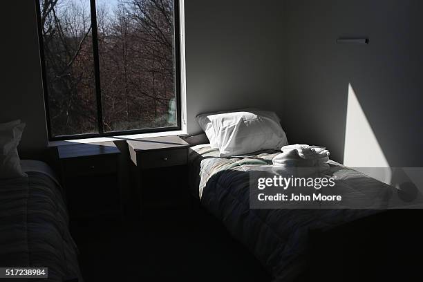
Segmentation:
[(1, 16), (0, 122), (26, 122), (19, 151), (39, 158), (47, 133), (39, 66), (35, 1), (5, 1)]

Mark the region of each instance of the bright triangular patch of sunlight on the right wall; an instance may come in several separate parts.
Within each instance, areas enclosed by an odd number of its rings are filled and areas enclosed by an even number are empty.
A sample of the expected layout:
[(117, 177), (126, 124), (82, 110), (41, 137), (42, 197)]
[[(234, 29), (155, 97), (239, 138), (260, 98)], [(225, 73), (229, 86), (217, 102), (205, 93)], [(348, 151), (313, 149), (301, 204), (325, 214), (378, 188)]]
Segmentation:
[[(348, 84), (344, 164), (382, 182), (391, 182), (391, 169), (351, 84)], [(379, 168), (379, 169), (372, 169)]]

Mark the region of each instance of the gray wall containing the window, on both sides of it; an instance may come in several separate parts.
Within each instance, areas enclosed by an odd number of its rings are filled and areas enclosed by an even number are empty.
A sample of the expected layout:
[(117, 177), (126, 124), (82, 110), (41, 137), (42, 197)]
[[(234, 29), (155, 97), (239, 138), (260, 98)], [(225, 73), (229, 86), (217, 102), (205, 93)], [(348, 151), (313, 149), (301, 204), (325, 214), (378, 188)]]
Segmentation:
[[(4, 7), (4, 5), (8, 7)], [(185, 1), (188, 131), (198, 113), (282, 100), (281, 1)], [(47, 143), (34, 1), (7, 1), (3, 10), (0, 122), (27, 123), (20, 152), (38, 158)], [(5, 34), (6, 33), (6, 34)]]

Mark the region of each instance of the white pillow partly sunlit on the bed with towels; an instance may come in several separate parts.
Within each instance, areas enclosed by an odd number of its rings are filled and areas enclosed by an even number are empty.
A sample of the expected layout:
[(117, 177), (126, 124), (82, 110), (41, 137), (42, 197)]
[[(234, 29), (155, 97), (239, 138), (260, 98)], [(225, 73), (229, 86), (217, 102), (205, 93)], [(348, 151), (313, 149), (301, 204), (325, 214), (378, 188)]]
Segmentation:
[(212, 148), (220, 157), (252, 153), (264, 149), (279, 150), (288, 144), (276, 113), (257, 109), (197, 115)]

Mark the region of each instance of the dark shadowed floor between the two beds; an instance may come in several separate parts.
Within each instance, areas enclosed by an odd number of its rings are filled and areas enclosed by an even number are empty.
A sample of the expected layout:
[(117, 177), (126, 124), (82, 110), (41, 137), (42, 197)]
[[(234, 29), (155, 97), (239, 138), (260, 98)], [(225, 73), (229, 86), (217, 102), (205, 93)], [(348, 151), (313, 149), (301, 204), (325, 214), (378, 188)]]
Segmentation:
[(140, 220), (71, 223), (91, 281), (270, 281), (259, 261), (203, 209), (156, 209)]

